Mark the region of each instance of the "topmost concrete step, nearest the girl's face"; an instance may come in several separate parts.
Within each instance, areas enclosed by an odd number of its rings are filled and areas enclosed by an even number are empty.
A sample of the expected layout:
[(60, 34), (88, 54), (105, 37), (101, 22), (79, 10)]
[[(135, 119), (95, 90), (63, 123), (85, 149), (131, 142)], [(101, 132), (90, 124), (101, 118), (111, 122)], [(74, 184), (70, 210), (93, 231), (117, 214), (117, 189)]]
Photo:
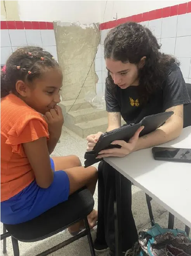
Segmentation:
[(63, 114), (68, 112), (69, 109), (71, 111), (76, 111), (79, 109), (87, 109), (89, 107), (92, 107), (90, 103), (85, 100), (76, 100), (76, 102), (75, 103), (74, 102), (75, 100), (66, 100), (66, 101), (61, 101), (59, 103), (60, 107), (63, 110)]

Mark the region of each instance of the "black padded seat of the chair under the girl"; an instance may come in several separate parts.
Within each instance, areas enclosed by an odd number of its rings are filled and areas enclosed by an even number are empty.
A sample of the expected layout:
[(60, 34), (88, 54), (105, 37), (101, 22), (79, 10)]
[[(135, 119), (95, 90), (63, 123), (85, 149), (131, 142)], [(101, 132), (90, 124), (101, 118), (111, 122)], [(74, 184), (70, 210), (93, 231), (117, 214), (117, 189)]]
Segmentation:
[(35, 242), (50, 237), (84, 219), (94, 208), (94, 198), (88, 189), (80, 189), (68, 200), (21, 224), (4, 224), (10, 235), (21, 242)]

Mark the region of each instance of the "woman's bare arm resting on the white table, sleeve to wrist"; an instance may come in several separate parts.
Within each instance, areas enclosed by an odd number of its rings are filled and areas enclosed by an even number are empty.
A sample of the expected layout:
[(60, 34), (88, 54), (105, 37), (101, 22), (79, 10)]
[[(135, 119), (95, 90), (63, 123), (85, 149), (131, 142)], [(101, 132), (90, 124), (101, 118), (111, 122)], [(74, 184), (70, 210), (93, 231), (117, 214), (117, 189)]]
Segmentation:
[(163, 124), (147, 135), (140, 137), (134, 151), (148, 147), (158, 146), (170, 140), (174, 140), (181, 134), (183, 128), (183, 105), (177, 105), (165, 112), (174, 111), (174, 114)]

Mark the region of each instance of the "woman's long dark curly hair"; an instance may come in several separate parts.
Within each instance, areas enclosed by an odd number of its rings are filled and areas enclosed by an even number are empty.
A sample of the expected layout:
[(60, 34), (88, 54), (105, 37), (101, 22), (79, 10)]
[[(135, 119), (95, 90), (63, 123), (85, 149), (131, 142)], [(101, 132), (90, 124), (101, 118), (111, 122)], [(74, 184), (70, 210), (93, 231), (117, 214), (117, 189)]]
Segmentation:
[[(161, 53), (160, 45), (153, 33), (138, 23), (123, 23), (113, 28), (104, 41), (104, 58), (112, 58), (123, 63), (138, 65), (141, 58), (146, 56), (145, 65), (139, 68), (139, 100), (144, 104), (149, 96), (165, 79), (168, 67), (179, 62), (172, 56)], [(115, 94), (116, 84), (108, 72), (106, 86)]]

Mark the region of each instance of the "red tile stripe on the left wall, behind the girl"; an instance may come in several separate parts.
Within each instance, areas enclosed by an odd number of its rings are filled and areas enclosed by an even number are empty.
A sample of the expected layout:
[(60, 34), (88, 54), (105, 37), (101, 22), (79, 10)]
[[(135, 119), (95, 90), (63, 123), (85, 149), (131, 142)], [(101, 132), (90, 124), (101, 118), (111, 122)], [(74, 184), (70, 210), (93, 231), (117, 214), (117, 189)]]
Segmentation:
[(53, 22), (47, 21), (1, 21), (1, 29), (54, 29)]

